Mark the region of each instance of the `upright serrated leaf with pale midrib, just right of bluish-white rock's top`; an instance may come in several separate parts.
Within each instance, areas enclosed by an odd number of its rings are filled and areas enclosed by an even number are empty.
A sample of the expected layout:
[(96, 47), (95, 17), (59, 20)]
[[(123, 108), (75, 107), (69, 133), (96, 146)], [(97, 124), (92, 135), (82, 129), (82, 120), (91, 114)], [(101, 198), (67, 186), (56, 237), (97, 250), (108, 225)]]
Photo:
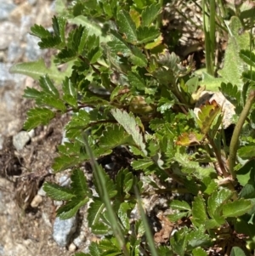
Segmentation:
[(93, 199), (94, 202), (91, 202), (88, 208), (88, 225), (90, 227), (94, 226), (100, 218), (100, 214), (105, 208), (104, 202), (100, 201), (97, 198)]

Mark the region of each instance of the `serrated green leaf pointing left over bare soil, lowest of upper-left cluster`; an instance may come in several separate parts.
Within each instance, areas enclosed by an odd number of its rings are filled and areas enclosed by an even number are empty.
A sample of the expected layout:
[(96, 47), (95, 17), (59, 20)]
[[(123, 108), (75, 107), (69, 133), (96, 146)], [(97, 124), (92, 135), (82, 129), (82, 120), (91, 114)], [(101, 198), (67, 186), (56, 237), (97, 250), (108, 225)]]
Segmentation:
[(43, 124), (46, 125), (48, 122), (54, 118), (54, 112), (47, 108), (34, 108), (27, 111), (27, 119), (24, 123), (24, 128), (26, 130), (31, 130), (37, 126)]

